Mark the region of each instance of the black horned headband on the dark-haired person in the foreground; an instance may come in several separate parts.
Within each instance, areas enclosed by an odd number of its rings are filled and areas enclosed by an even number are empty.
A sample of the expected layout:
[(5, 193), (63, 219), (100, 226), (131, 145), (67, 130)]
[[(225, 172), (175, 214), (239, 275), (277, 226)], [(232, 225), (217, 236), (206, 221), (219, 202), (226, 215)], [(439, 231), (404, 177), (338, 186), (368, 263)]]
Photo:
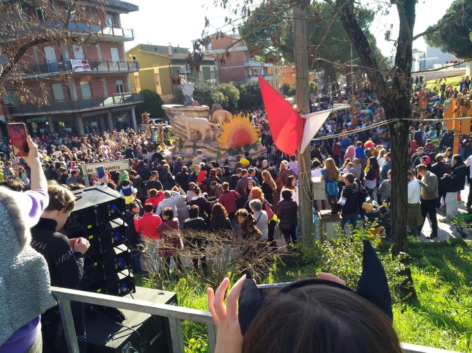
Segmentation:
[[(314, 278), (291, 283), (282, 288), (278, 294), (288, 293), (296, 288), (315, 284), (323, 284), (326, 286), (337, 287), (354, 292), (342, 284)], [(388, 288), (385, 270), (383, 269), (383, 265), (380, 262), (380, 259), (377, 256), (374, 248), (372, 247), (372, 244), (368, 240), (364, 240), (362, 274), (360, 275), (359, 282), (357, 284), (357, 290), (354, 293), (362, 296), (372, 304), (376, 305), (386, 316), (388, 316), (390, 321), (393, 321), (392, 298), (390, 295), (390, 289)], [(270, 298), (266, 299), (259, 293), (259, 289), (252, 280), (251, 273), (247, 271), (246, 280), (242, 284), (238, 301), (238, 321), (241, 328), (241, 333), (243, 335), (246, 333), (251, 322), (267, 300), (270, 300)]]

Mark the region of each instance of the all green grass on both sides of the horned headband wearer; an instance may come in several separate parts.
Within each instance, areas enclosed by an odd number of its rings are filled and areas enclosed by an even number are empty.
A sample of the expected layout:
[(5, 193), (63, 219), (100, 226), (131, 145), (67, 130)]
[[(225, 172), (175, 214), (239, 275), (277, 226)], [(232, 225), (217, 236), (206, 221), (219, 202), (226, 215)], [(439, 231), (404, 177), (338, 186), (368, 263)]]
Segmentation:
[[(472, 241), (409, 242), (418, 299), (394, 304), (394, 326), (402, 342), (472, 352)], [(273, 265), (267, 283), (314, 276), (316, 265), (284, 257)], [(150, 286), (137, 280), (137, 285)], [(207, 285), (181, 279), (172, 290), (178, 304), (207, 310)], [(208, 352), (205, 325), (182, 323), (185, 352)]]

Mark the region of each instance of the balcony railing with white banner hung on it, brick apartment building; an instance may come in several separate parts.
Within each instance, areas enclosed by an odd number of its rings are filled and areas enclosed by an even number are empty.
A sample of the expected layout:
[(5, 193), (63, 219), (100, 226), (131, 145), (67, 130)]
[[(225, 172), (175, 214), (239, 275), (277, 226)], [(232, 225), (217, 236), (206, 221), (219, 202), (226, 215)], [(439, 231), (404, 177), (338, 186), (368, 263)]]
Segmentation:
[(33, 62), (23, 68), (23, 72), (26, 76), (33, 75), (48, 75), (58, 74), (64, 71), (73, 72), (137, 72), (139, 71), (139, 61), (127, 61), (127, 60), (98, 60), (88, 59), (89, 68), (84, 70), (83, 68), (78, 71), (73, 67), (70, 59), (64, 59), (61, 61), (41, 61)]

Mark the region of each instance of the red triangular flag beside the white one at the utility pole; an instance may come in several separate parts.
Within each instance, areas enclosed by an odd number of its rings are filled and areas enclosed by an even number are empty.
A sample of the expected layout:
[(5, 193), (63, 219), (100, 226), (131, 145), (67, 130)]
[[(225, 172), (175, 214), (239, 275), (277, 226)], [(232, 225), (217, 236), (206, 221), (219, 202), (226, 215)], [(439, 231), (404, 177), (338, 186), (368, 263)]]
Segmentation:
[(259, 74), (262, 98), (275, 147), (289, 155), (295, 153), (303, 138), (305, 119)]

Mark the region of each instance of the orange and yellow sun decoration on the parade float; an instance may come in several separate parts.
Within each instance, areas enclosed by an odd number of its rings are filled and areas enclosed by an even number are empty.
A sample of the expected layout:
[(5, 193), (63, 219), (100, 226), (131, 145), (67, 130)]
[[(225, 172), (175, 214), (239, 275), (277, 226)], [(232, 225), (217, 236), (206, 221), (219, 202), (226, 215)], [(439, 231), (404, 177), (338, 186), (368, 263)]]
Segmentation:
[(221, 148), (237, 148), (245, 145), (253, 145), (259, 141), (258, 130), (249, 121), (249, 116), (239, 113), (232, 116), (229, 122), (223, 122), (220, 126), (223, 131), (216, 140)]

